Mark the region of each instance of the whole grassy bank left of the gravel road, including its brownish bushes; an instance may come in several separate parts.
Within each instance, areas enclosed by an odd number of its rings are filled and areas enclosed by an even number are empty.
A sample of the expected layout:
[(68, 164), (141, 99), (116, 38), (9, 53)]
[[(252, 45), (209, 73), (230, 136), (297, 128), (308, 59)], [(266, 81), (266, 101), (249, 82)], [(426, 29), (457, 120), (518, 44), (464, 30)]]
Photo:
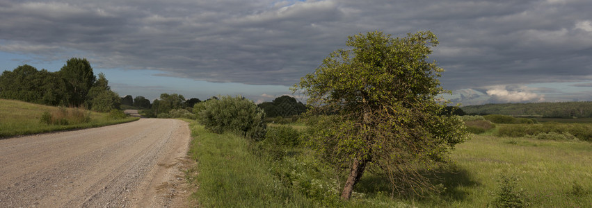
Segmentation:
[(127, 117), (119, 111), (99, 113), (0, 99), (0, 138), (93, 128), (136, 120), (138, 118)]

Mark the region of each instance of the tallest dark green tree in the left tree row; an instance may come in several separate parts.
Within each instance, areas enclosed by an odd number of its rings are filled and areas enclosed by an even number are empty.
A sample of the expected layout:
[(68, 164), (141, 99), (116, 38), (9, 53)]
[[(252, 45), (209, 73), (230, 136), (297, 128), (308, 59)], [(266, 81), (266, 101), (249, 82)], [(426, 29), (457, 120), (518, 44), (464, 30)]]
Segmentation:
[(70, 93), (70, 105), (79, 106), (86, 101), (86, 95), (97, 78), (86, 58), (71, 58), (58, 72)]

